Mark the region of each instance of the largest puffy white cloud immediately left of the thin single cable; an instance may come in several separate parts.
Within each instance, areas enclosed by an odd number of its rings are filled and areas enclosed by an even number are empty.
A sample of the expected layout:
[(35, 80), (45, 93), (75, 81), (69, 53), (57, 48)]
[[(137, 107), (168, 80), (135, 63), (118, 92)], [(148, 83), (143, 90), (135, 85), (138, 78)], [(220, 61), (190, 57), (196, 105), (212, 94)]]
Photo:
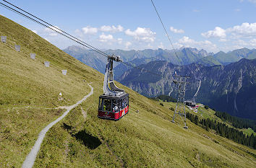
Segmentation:
[(137, 27), (135, 31), (128, 29), (125, 31), (125, 34), (134, 37), (135, 40), (146, 43), (153, 43), (155, 40), (155, 32), (151, 31), (150, 28)]

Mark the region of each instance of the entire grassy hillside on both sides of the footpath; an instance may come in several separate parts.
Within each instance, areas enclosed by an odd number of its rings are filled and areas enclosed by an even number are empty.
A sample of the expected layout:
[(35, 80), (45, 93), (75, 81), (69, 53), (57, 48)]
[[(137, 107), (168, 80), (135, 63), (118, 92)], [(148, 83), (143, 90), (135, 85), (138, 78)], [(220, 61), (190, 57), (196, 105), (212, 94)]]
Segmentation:
[[(0, 167), (20, 167), (43, 126), (61, 113), (43, 107), (70, 105), (80, 100), (90, 92), (86, 85), (90, 81), (95, 89), (93, 96), (46, 134), (35, 167), (255, 165), (256, 159), (252, 156), (256, 154), (255, 150), (209, 133), (189, 121), (189, 129), (185, 130), (179, 118), (176, 124), (170, 122), (173, 112), (168, 110), (169, 106), (162, 107), (159, 102), (121, 85), (130, 95), (129, 114), (117, 122), (98, 119), (102, 74), (30, 30), (4, 17), (0, 17), (0, 23), (0, 34), (7, 35), (7, 42), (22, 45), (22, 52), (17, 53), (0, 44), (0, 95), (3, 97), (0, 106)], [(37, 53), (35, 61), (29, 58), (30, 52)], [(50, 68), (43, 66), (45, 60), (51, 61)], [(68, 69), (68, 75), (62, 76), (61, 69)], [(59, 92), (64, 93), (66, 102), (57, 100)], [(12, 108), (27, 105), (31, 108)], [(86, 119), (81, 107), (88, 113)]]

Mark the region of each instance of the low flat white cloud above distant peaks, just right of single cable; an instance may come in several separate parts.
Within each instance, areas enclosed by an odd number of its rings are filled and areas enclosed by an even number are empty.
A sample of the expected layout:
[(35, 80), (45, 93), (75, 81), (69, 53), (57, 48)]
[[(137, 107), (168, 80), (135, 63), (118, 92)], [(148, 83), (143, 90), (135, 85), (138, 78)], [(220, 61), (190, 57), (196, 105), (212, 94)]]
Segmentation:
[(178, 47), (185, 46), (185, 47), (190, 47), (190, 48), (205, 49), (205, 50), (209, 50), (211, 52), (218, 51), (217, 46), (215, 44), (211, 43), (209, 40), (196, 41), (187, 36), (184, 36), (181, 39), (179, 39), (178, 42), (179, 43), (175, 43), (175, 45)]

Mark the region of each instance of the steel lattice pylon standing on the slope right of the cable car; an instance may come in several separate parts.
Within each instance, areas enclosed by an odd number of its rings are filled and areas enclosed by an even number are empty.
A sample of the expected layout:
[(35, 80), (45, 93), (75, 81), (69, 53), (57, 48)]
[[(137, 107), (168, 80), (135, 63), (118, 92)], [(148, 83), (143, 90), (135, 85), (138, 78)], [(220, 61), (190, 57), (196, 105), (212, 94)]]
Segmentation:
[(178, 76), (175, 71), (175, 77), (176, 79), (174, 79), (174, 84), (178, 85), (178, 99), (177, 99), (177, 103), (174, 111), (174, 117), (172, 118), (171, 122), (175, 123), (174, 121), (175, 116), (176, 114), (179, 114), (184, 120), (184, 128), (187, 129), (188, 127), (186, 123), (185, 93), (186, 93), (186, 84), (188, 83), (187, 79), (189, 78), (189, 76)]

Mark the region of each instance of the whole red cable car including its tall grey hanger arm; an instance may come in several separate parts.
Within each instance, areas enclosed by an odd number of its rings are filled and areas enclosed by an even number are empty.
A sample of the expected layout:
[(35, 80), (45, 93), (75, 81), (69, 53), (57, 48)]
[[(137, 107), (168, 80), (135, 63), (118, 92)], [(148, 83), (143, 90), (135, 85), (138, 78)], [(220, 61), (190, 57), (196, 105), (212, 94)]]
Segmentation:
[(119, 120), (129, 111), (129, 94), (114, 84), (113, 61), (121, 62), (120, 56), (108, 56), (103, 94), (99, 97), (98, 118)]

